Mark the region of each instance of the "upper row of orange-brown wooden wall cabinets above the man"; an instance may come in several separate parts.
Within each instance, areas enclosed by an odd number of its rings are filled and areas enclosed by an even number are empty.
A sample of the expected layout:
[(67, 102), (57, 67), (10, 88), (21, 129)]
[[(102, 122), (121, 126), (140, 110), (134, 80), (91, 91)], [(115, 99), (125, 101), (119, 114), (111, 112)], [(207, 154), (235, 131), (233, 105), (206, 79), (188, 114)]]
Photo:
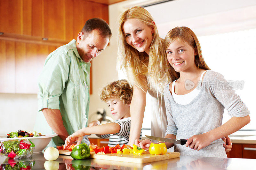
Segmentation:
[(86, 0), (0, 0), (0, 32), (76, 39), (86, 20), (108, 23), (108, 5)]

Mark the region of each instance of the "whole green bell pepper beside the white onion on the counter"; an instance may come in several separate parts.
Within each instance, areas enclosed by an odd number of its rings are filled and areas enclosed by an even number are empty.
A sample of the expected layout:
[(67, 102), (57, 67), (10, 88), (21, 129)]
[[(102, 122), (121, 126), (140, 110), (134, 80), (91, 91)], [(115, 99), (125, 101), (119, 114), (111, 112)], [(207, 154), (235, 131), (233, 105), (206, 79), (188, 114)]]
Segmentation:
[(79, 144), (74, 149), (72, 149), (72, 152), (70, 156), (73, 159), (85, 159), (88, 158), (91, 155), (90, 148), (87, 146), (87, 144)]

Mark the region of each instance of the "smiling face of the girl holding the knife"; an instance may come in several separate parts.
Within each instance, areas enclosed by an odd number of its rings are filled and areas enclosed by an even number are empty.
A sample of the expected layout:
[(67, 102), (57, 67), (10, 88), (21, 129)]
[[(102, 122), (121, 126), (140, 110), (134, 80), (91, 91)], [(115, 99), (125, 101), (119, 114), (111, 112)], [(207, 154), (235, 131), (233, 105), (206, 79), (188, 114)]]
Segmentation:
[(186, 42), (176, 39), (166, 49), (166, 54), (168, 62), (177, 72), (196, 67), (195, 55), (197, 55), (197, 51)]

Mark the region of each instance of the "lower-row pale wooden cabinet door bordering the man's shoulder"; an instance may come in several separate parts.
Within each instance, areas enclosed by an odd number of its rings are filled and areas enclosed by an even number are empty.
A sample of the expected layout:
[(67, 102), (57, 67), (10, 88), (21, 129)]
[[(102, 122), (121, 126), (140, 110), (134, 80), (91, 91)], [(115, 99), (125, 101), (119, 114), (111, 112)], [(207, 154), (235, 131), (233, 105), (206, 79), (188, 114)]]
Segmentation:
[(36, 94), (46, 57), (56, 46), (15, 42), (16, 93)]

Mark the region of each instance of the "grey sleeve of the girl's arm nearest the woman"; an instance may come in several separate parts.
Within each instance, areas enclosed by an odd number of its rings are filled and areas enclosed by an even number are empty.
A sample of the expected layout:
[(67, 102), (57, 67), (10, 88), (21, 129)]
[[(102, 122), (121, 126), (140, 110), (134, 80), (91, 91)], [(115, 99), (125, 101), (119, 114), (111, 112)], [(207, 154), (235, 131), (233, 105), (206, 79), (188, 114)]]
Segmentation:
[[(169, 84), (167, 86), (169, 87)], [(164, 103), (165, 103), (166, 116), (167, 116), (167, 122), (168, 122), (165, 136), (168, 134), (173, 134), (177, 136), (178, 128), (176, 127), (176, 124), (172, 117), (171, 101), (168, 99), (168, 97), (171, 97), (171, 96), (169, 95), (170, 92), (167, 86), (164, 89)]]

